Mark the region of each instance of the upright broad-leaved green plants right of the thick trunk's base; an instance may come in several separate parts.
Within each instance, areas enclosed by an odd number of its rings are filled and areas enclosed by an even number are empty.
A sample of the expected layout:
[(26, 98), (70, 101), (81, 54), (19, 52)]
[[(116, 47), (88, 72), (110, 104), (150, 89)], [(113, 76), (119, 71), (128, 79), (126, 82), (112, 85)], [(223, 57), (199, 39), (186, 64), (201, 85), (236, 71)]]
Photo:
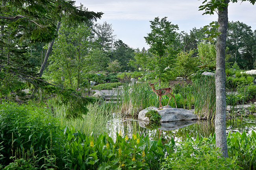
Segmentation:
[(242, 134), (239, 132), (228, 133), (228, 155), (236, 157), (239, 165), (244, 170), (256, 169), (256, 133), (252, 130), (249, 135), (244, 131)]

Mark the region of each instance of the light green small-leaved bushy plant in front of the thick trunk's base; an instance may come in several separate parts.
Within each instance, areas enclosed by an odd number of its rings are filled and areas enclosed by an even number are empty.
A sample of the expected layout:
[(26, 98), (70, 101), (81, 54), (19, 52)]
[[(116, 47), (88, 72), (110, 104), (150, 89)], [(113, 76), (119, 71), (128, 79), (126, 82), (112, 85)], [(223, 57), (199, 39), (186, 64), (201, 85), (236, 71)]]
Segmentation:
[(215, 137), (192, 139), (187, 136), (180, 142), (161, 164), (161, 170), (239, 170), (237, 157), (222, 157), (221, 150), (215, 148)]

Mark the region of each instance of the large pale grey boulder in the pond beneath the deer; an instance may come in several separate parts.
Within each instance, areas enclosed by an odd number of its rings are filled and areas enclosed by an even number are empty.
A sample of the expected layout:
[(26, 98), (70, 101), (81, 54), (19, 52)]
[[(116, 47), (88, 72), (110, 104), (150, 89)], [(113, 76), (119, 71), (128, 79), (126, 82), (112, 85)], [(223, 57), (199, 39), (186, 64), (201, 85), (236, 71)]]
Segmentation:
[(180, 120), (197, 120), (197, 115), (193, 114), (191, 110), (179, 109), (179, 108), (165, 108), (158, 110), (157, 107), (148, 107), (139, 112), (138, 119), (143, 121), (149, 121), (145, 114), (148, 110), (156, 110), (161, 115), (160, 122), (180, 121)]

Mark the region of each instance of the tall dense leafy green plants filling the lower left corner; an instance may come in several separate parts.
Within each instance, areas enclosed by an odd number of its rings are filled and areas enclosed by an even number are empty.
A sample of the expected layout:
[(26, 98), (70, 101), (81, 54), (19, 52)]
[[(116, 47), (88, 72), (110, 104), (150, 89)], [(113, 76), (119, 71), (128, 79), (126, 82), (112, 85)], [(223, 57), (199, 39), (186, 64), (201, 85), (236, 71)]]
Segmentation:
[[(6, 169), (39, 169), (49, 156), (61, 157), (59, 122), (46, 109), (3, 102), (0, 110), (0, 138), (5, 148), (0, 164), (8, 165)], [(49, 163), (55, 166), (54, 160)]]

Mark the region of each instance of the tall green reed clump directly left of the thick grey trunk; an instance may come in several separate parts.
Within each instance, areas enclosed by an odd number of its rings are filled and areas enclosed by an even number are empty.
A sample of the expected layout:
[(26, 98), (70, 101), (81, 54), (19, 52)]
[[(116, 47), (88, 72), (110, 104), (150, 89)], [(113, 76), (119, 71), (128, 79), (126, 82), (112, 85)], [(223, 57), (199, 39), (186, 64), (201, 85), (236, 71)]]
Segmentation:
[(215, 79), (202, 76), (194, 82), (195, 114), (200, 118), (213, 119), (216, 110)]

